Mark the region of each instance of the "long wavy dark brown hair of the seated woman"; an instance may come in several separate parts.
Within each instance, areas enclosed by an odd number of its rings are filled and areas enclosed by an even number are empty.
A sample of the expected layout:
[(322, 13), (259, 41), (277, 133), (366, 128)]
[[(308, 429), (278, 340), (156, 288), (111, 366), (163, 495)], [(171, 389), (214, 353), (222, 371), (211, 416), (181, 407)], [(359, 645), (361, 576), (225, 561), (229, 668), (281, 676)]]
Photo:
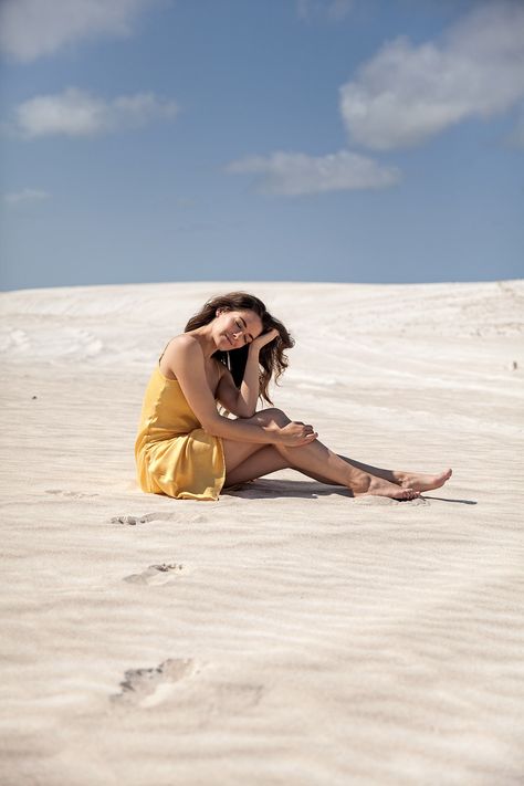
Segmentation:
[[(264, 398), (269, 404), (273, 401), (269, 397), (268, 388), (272, 377), (275, 384), (287, 368), (287, 356), (284, 349), (291, 349), (294, 345), (294, 339), (291, 337), (287, 328), (280, 319), (272, 316), (266, 310), (264, 303), (259, 297), (250, 295), (247, 292), (229, 292), (226, 295), (218, 295), (208, 301), (203, 307), (192, 316), (185, 327), (185, 332), (195, 331), (197, 327), (209, 325), (217, 316), (217, 310), (224, 308), (226, 311), (254, 311), (262, 322), (262, 333), (276, 328), (279, 335), (276, 338), (262, 347), (259, 355), (259, 396)], [(248, 363), (249, 344), (234, 349), (232, 352), (217, 350), (213, 357), (221, 360), (231, 371), (234, 384), (240, 388), (244, 376), (245, 364)]]

